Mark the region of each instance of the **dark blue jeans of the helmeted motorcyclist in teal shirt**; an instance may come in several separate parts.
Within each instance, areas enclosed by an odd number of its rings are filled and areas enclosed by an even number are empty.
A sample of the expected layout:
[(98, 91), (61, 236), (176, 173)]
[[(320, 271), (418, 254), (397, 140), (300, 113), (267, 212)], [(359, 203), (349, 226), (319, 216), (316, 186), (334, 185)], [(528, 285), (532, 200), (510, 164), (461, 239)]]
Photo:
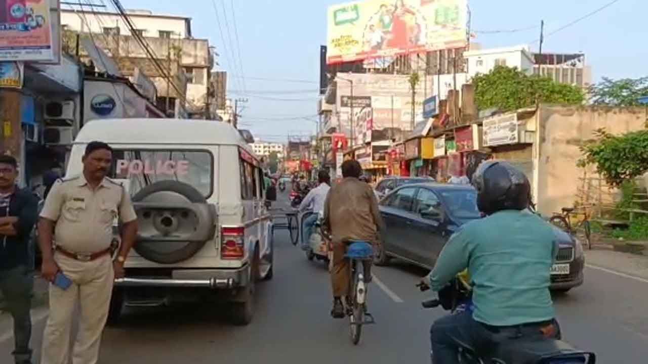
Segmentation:
[[(560, 338), (560, 328), (557, 327), (555, 337)], [(540, 327), (532, 326), (503, 326), (496, 328), (489, 326), (472, 318), (471, 312), (461, 312), (454, 315), (447, 315), (438, 319), (430, 328), (430, 341), (432, 349), (432, 364), (459, 364), (457, 352), (459, 343), (469, 347), (473, 352), (483, 356), (492, 356), (493, 348), (513, 337), (537, 337), (540, 339), (542, 333)]]

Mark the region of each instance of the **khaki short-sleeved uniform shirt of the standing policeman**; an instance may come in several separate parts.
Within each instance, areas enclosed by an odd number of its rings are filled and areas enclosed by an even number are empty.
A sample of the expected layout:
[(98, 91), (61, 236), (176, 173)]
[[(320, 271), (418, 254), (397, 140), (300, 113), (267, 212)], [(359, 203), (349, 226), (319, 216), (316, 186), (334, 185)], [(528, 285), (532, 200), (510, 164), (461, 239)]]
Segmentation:
[(92, 190), (83, 175), (58, 179), (40, 213), (41, 218), (56, 222), (56, 245), (73, 253), (108, 249), (117, 216), (123, 223), (137, 218), (124, 188), (104, 178)]

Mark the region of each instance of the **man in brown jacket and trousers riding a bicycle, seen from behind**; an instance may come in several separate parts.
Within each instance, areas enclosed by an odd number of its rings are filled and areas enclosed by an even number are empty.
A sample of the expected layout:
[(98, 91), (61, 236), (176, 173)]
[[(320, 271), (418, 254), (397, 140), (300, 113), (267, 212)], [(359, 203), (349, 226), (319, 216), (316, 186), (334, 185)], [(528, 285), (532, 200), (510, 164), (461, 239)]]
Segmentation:
[[(358, 161), (342, 163), (342, 181), (329, 190), (324, 204), (324, 227), (332, 234), (333, 257), (330, 272), (333, 288), (332, 317), (344, 317), (341, 297), (349, 297), (349, 260), (346, 243), (360, 240), (376, 244), (379, 230), (384, 224), (378, 211), (378, 201), (371, 186), (360, 181), (362, 167)], [(370, 262), (365, 264), (365, 282), (371, 280)]]

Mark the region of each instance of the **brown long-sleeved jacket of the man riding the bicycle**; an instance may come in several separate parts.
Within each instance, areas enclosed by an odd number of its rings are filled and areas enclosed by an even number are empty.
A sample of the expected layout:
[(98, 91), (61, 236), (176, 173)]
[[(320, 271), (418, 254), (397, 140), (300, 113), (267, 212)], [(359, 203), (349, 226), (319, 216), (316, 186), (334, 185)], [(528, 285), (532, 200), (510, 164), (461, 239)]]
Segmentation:
[(334, 243), (375, 243), (378, 228), (384, 226), (373, 189), (357, 178), (345, 178), (330, 188), (324, 203), (324, 219)]

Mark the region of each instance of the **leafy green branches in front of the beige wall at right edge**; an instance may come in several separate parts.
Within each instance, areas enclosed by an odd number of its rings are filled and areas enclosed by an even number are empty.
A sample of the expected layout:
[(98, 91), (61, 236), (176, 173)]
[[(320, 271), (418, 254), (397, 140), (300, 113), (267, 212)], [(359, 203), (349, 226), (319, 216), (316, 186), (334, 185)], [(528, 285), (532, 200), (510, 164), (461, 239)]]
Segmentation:
[(648, 170), (648, 130), (612, 135), (601, 128), (596, 136), (596, 141), (581, 146), (579, 166), (596, 165), (612, 186), (621, 186)]

